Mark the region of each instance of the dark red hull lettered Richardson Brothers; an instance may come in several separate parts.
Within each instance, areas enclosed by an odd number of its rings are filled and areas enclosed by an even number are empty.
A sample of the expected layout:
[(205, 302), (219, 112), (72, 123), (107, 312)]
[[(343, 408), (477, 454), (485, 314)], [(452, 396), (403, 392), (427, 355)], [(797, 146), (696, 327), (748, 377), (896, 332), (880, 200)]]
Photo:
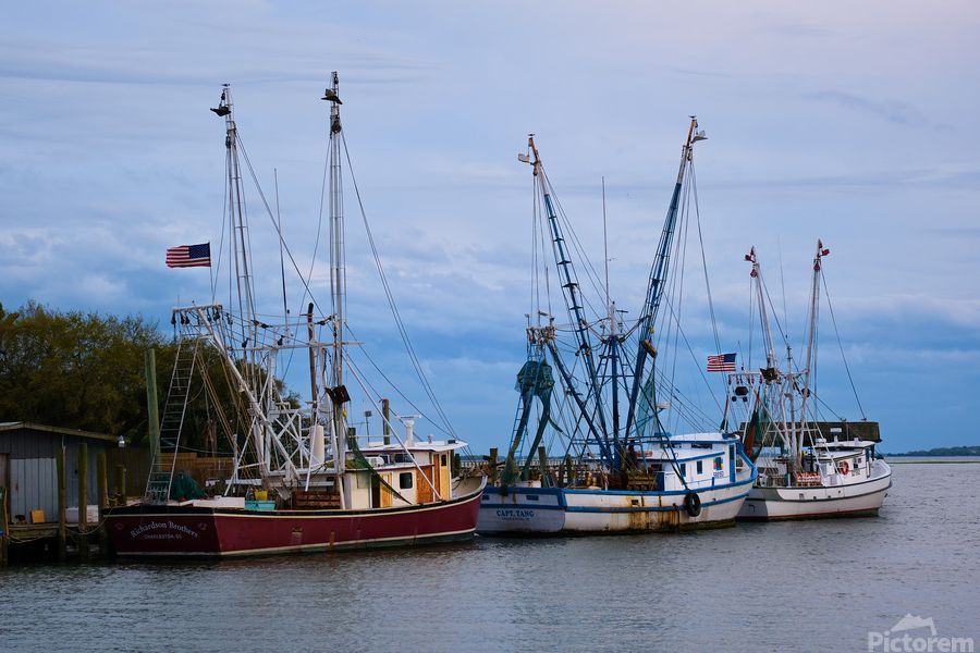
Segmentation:
[(449, 502), (371, 510), (249, 510), (135, 505), (112, 508), (117, 555), (220, 557), (407, 546), (467, 540), (483, 482)]

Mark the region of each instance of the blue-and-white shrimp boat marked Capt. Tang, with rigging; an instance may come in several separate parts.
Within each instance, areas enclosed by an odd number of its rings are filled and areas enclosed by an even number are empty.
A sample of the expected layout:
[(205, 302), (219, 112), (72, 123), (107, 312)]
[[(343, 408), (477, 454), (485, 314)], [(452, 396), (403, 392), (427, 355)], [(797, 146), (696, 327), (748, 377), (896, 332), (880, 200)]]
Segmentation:
[[(670, 365), (661, 367), (670, 352), (658, 352), (659, 346), (670, 349), (679, 329), (671, 323), (673, 305), (669, 312), (658, 309), (667, 289), (671, 254), (679, 247), (674, 235), (690, 206), (694, 144), (706, 138), (691, 118), (645, 304), (632, 321), (609, 298), (608, 267), (598, 303), (579, 284), (573, 259), (576, 251), (585, 255), (554, 199), (534, 135), (528, 153), (518, 156), (530, 164), (536, 182), (535, 241), (540, 245), (534, 258), (544, 269), (536, 272), (513, 435), (502, 470), (491, 452), (479, 533), (653, 532), (734, 523), (756, 468), (737, 433), (710, 427), (687, 434), (669, 431), (674, 416), (689, 418), (698, 409), (671, 383)], [(543, 263), (548, 248), (551, 272)], [(588, 261), (583, 268), (586, 274), (592, 270)], [(548, 310), (551, 283), (561, 286), (566, 323)], [(590, 312), (597, 304), (604, 304), (604, 315)], [(555, 377), (559, 393), (553, 392)], [(702, 426), (718, 423), (702, 417)]]

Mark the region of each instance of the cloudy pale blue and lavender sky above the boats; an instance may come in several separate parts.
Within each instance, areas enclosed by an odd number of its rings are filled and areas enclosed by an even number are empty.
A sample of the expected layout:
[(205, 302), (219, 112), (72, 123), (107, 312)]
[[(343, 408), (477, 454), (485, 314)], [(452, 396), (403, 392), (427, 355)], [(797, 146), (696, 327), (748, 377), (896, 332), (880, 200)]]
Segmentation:
[[(208, 300), (207, 272), (168, 270), (163, 252), (221, 236), (224, 131), (208, 108), (222, 83), (309, 266), (319, 97), (339, 71), (358, 189), (419, 357), (457, 434), (475, 451), (503, 446), (530, 310), (531, 178), (516, 161), (527, 134), (599, 261), (605, 178), (611, 286), (636, 307), (697, 114), (722, 348), (748, 337), (751, 246), (799, 341), (822, 238), (840, 346), (882, 449), (977, 444), (977, 34), (968, 1), (11, 3), (0, 303), (140, 313), (167, 331), (173, 305)], [(345, 184), (350, 318), (401, 378)], [(254, 194), (249, 211), (257, 287), (274, 311), (277, 241)], [(320, 255), (313, 286), (326, 297)], [(289, 297), (298, 311), (298, 284)], [(713, 353), (706, 315), (693, 310), (690, 334)], [(859, 419), (831, 360), (836, 336), (821, 333), (823, 396)]]

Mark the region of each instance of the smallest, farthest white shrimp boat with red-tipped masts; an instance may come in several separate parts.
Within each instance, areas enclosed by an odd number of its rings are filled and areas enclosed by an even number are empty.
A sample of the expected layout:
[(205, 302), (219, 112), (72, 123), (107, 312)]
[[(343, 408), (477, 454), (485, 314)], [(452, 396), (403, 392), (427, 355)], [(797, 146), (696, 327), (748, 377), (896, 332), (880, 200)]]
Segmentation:
[[(785, 368), (779, 367), (767, 310), (769, 294), (755, 247), (745, 257), (752, 264), (751, 279), (765, 347), (765, 367), (759, 372), (738, 372), (728, 378), (732, 403), (738, 405), (743, 399), (743, 405), (750, 410), (743, 422), (743, 438), (745, 448), (759, 468), (759, 478), (742, 506), (738, 519), (762, 521), (875, 515), (892, 486), (889, 464), (875, 455), (877, 441), (850, 438), (847, 432), (877, 431), (877, 423), (858, 422), (852, 429), (845, 421), (819, 421), (816, 414), (820, 280), (822, 259), (829, 254), (823, 243), (818, 242), (801, 369), (796, 369), (788, 345)], [(859, 428), (865, 426), (873, 428)]]

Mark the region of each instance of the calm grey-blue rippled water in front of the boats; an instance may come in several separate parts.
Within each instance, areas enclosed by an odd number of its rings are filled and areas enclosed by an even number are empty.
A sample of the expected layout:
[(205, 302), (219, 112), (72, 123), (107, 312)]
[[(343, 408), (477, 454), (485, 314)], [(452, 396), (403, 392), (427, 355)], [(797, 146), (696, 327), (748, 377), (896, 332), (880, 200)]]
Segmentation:
[(0, 649), (867, 651), (980, 644), (980, 465), (898, 465), (878, 518), (0, 570)]

